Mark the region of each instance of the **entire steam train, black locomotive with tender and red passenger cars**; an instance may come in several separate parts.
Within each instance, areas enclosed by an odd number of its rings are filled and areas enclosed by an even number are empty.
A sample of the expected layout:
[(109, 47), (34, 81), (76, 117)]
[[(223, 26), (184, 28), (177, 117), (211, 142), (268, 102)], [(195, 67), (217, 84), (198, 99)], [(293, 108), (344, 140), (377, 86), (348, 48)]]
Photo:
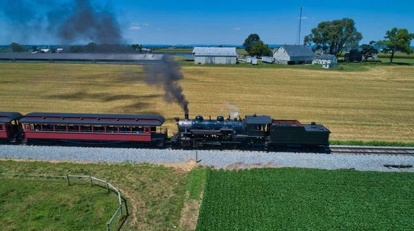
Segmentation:
[[(321, 124), (275, 120), (268, 115), (205, 120), (175, 118), (178, 132), (172, 148), (248, 148), (266, 150), (301, 148), (324, 151), (331, 131)], [(89, 144), (130, 143), (166, 146), (168, 130), (161, 115), (0, 112), (0, 141), (10, 143), (76, 142)]]

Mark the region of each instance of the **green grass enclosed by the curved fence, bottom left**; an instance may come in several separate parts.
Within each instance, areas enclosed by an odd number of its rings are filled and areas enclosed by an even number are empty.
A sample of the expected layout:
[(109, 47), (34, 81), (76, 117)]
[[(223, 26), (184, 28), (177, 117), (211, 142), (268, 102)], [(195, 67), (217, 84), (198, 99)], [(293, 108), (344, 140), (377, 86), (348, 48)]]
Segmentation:
[(0, 176), (0, 230), (105, 230), (118, 197), (87, 183)]

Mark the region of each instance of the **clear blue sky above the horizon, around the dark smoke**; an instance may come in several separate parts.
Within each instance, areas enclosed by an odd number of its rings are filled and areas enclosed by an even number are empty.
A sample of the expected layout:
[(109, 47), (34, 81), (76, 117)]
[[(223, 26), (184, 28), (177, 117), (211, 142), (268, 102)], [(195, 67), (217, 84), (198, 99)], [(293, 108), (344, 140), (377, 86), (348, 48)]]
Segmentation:
[[(1, 0), (6, 1), (6, 0)], [(26, 1), (26, 0), (14, 0)], [(37, 0), (38, 12), (56, 10), (67, 0)], [(54, 2), (51, 5), (48, 2)], [(103, 1), (92, 0), (103, 5)], [(386, 30), (406, 28), (414, 33), (414, 1), (137, 1), (108, 3), (119, 22), (127, 43), (140, 44), (242, 44), (248, 34), (259, 34), (268, 44), (295, 44), (302, 12), (303, 37), (321, 21), (348, 17), (362, 32), (361, 43), (382, 39)], [(6, 5), (1, 5), (8, 7)], [(50, 8), (50, 9), (48, 9)], [(43, 22), (32, 27), (42, 27)], [(55, 36), (34, 30), (33, 36), (17, 36), (10, 30), (6, 15), (0, 14), (0, 44), (60, 43)], [(41, 33), (41, 34), (40, 34)], [(47, 33), (47, 32), (46, 32)], [(79, 41), (83, 43), (86, 41)], [(412, 43), (414, 44), (414, 43)]]

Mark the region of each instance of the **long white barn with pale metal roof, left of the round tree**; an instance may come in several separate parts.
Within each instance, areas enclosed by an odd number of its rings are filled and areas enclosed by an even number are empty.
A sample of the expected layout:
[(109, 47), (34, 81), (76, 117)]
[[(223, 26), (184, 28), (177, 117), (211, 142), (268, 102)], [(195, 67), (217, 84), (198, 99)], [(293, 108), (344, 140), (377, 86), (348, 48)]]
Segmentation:
[(196, 64), (236, 64), (236, 47), (194, 47)]

